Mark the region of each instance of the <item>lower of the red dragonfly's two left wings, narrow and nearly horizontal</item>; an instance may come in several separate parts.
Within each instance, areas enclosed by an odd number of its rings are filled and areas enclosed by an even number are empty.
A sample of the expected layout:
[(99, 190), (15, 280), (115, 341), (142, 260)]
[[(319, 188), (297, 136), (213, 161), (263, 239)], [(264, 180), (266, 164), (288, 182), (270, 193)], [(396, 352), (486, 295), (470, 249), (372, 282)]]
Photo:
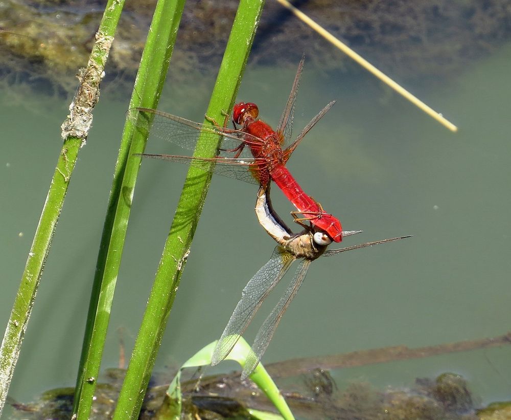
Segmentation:
[(193, 166), (206, 172), (213, 172), (218, 175), (228, 176), (229, 178), (257, 185), (259, 185), (259, 181), (254, 178), (254, 175), (257, 176), (257, 171), (260, 170), (260, 168), (266, 167), (266, 161), (259, 158), (195, 158), (193, 156), (149, 153), (135, 153), (135, 155), (162, 161), (184, 163), (185, 165)]

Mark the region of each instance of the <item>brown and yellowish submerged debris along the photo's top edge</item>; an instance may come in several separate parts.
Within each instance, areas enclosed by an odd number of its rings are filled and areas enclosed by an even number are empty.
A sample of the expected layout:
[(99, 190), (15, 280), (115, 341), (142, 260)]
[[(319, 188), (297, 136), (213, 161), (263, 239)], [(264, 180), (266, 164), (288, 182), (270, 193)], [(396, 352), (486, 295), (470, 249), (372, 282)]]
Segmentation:
[[(126, 4), (105, 82), (131, 84), (155, 2)], [(204, 72), (218, 67), (237, 6), (234, 0), (187, 3), (171, 70), (176, 78), (192, 69)], [(5, 0), (0, 6), (0, 79), (49, 93), (72, 93), (75, 73), (87, 62), (103, 7), (99, 1), (49, 1), (41, 7), (41, 2)], [(509, 0), (321, 0), (303, 2), (300, 10), (378, 68), (402, 79), (456, 76), (469, 62), (511, 38)], [(326, 71), (356, 65), (333, 51), (288, 11), (268, 2), (250, 58), (282, 67), (286, 60), (294, 65), (305, 52)]]

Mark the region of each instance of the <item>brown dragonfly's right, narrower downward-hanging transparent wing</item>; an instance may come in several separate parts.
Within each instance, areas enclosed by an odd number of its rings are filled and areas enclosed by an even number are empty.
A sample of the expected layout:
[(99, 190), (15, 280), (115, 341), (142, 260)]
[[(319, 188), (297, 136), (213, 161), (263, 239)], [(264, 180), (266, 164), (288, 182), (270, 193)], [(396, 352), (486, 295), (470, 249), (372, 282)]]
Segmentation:
[(270, 315), (268, 315), (263, 325), (259, 329), (257, 336), (255, 336), (252, 349), (248, 353), (243, 372), (241, 373), (242, 380), (247, 378), (248, 375), (255, 369), (255, 366), (257, 366), (261, 361), (261, 358), (263, 357), (263, 354), (268, 347), (268, 344), (270, 344), (270, 340), (273, 337), (273, 334), (275, 333), (275, 329), (277, 328), (278, 323), (280, 322), (284, 312), (298, 292), (301, 284), (304, 282), (310, 264), (311, 260), (309, 259), (303, 259), (300, 261), (286, 292), (284, 292), (284, 295), (282, 295), (276, 306), (273, 308), (273, 311), (271, 311)]

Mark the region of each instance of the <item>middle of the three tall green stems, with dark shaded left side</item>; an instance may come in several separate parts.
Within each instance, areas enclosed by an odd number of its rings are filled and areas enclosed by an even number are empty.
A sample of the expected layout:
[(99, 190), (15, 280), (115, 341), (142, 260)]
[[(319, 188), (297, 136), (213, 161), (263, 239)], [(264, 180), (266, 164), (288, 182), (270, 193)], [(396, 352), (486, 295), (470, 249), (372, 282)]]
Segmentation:
[[(182, 15), (184, 0), (159, 0), (149, 30), (130, 108), (155, 107), (168, 71), (170, 56)], [(134, 133), (128, 120), (124, 127), (101, 245), (92, 286), (87, 325), (77, 377), (74, 413), (80, 419), (89, 416), (101, 365), (115, 284), (121, 264), (140, 158), (147, 138)]]

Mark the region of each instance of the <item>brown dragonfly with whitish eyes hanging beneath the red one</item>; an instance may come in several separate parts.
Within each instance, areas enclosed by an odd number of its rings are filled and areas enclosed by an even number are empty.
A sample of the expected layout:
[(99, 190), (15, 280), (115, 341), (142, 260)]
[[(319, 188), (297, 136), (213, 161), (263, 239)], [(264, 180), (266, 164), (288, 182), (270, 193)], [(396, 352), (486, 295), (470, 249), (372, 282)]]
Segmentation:
[[(327, 247), (332, 241), (324, 232), (312, 226), (306, 228), (299, 234), (293, 234), (282, 222), (271, 206), (269, 186), (267, 188), (260, 187), (255, 205), (255, 213), (257, 214), (259, 223), (266, 232), (277, 241), (278, 245), (275, 247), (270, 260), (255, 273), (243, 289), (242, 298), (236, 305), (233, 315), (231, 315), (213, 352), (211, 362), (213, 366), (225, 359), (230, 350), (233, 349), (255, 313), (259, 310), (263, 301), (268, 297), (282, 277), (284, 277), (291, 267), (291, 264), (300, 258), (301, 261), (286, 291), (273, 308), (273, 311), (271, 311), (270, 315), (265, 319), (255, 336), (254, 343), (243, 367), (243, 372), (241, 374), (242, 380), (247, 378), (261, 361), (275, 333), (278, 322), (280, 322), (284, 312), (298, 292), (301, 284), (304, 282), (312, 261), (319, 258), (321, 255), (336, 255), (344, 251), (385, 244), (386, 242), (410, 237), (401, 236), (365, 242), (365, 244), (355, 245), (353, 247), (327, 251)], [(343, 231), (342, 235), (349, 236), (360, 232), (362, 231)]]

